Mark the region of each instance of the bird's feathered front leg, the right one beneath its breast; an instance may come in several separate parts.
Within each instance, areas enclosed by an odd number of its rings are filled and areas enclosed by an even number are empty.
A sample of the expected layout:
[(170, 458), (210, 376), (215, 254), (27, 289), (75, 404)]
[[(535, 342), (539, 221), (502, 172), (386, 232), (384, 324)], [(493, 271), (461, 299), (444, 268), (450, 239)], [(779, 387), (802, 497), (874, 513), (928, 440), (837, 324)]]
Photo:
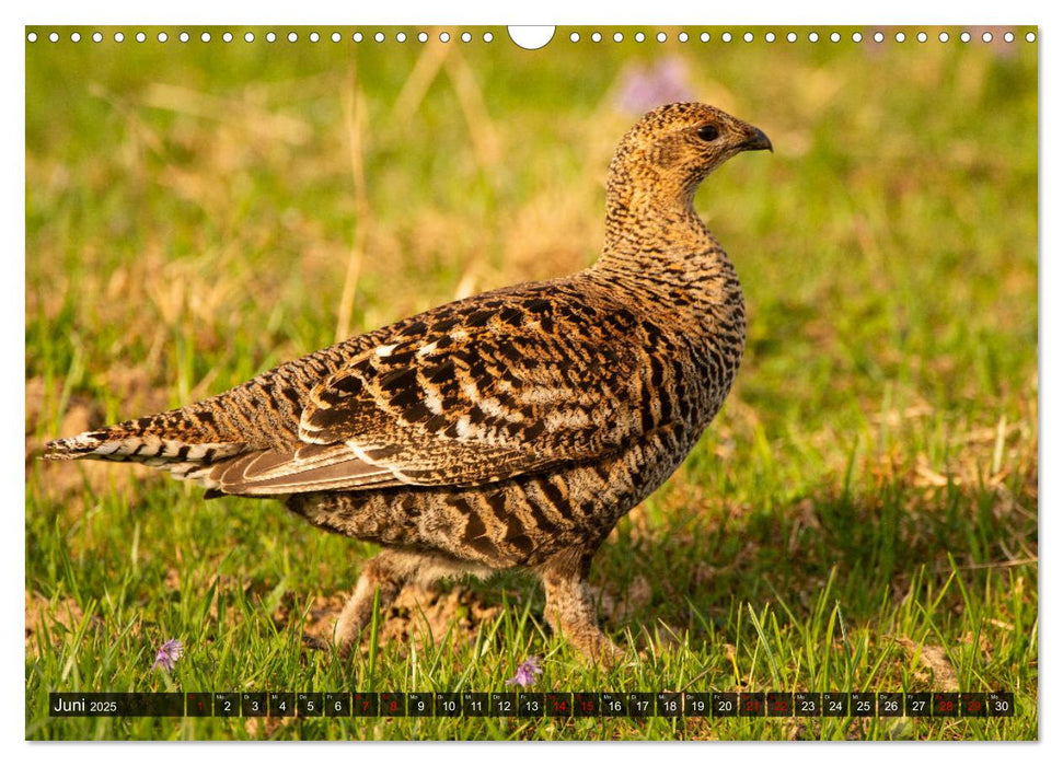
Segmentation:
[(614, 663), (624, 651), (598, 627), (594, 600), (587, 584), (590, 554), (552, 559), (540, 574), (546, 590), (545, 617), (554, 632), (579, 649), (592, 662)]

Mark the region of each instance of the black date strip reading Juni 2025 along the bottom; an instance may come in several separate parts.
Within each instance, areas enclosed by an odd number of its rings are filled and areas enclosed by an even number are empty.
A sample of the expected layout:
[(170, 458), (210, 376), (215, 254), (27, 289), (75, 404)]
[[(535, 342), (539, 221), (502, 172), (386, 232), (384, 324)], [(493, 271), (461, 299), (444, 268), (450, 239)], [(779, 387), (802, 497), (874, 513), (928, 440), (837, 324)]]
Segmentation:
[(72, 717), (1001, 718), (1010, 692), (53, 692)]

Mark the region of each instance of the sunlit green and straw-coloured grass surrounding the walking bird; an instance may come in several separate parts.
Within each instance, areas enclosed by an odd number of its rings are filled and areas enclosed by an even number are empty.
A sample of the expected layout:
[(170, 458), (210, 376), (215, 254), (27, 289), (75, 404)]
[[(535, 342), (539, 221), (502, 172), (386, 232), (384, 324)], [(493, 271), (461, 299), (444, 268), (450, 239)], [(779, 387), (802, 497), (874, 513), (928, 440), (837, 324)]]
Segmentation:
[[(149, 471), (27, 459), (28, 739), (1037, 739), (1035, 45), (125, 32), (26, 48), (27, 455), (337, 330), (587, 265), (632, 68), (678, 58), (776, 153), (697, 198), (749, 305), (736, 388), (596, 558), (637, 660), (582, 664), (515, 573), (393, 610), (340, 663), (303, 636), (327, 634), (372, 546)], [(153, 672), (169, 638), (185, 655)], [(530, 654), (536, 690), (1006, 690), (1018, 715), (46, 713), (57, 689), (501, 690)]]

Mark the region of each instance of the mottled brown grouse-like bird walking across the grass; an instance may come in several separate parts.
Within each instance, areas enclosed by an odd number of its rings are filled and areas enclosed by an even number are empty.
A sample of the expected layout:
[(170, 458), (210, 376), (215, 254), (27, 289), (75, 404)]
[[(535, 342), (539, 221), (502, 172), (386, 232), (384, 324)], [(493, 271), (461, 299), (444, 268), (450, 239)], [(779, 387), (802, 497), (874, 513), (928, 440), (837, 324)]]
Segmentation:
[(736, 154), (772, 149), (714, 106), (655, 108), (609, 164), (588, 268), (430, 309), (200, 402), (48, 442), (44, 457), (164, 468), (208, 499), (275, 498), (379, 544), (336, 620), (340, 657), (408, 584), (518, 569), (542, 581), (555, 634), (617, 661), (592, 558), (694, 446), (746, 345), (741, 285), (694, 193)]

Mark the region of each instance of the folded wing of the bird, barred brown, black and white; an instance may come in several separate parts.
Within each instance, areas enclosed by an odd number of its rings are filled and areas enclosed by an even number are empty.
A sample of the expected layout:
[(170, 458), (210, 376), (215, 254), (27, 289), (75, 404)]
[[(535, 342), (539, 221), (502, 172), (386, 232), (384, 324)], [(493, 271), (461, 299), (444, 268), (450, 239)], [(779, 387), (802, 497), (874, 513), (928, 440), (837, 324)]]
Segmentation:
[(639, 323), (563, 299), (459, 302), (396, 325), (311, 391), (303, 443), (227, 461), (208, 485), (476, 486), (615, 450), (654, 422)]

